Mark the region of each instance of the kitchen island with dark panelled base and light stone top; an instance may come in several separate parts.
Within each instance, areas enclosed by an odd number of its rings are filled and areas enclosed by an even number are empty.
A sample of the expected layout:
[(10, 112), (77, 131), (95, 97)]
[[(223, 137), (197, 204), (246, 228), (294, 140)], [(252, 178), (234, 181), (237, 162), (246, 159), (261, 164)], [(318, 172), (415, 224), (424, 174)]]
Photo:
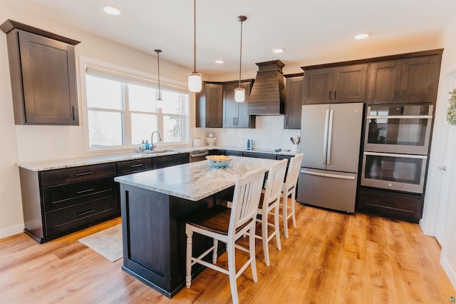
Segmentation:
[[(185, 286), (185, 219), (232, 200), (234, 183), (277, 161), (233, 156), (227, 168), (208, 161), (118, 176), (123, 228), (123, 270), (168, 298)], [(195, 254), (212, 240), (194, 235)], [(194, 273), (203, 268), (195, 265)]]

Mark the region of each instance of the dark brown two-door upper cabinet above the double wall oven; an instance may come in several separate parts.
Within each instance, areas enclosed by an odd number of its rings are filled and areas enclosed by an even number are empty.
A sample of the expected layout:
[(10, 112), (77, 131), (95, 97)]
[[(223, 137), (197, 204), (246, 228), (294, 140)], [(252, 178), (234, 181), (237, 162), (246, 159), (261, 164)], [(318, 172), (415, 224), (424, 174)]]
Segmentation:
[(369, 64), (367, 103), (433, 103), (440, 55)]

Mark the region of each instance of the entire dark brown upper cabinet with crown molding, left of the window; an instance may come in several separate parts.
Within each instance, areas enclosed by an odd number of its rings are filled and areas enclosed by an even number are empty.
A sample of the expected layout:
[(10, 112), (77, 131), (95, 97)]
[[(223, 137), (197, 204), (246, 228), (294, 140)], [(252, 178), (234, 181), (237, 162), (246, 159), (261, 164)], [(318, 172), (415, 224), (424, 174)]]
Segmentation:
[(8, 44), (15, 123), (77, 126), (79, 41), (12, 20), (0, 29)]

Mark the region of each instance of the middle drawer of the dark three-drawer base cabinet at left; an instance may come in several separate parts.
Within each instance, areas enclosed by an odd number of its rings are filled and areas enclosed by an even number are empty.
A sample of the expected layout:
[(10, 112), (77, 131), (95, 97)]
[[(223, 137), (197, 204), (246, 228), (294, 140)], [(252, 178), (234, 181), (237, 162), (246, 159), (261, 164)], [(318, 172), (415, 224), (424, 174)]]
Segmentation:
[(117, 195), (113, 177), (43, 188), (44, 211)]

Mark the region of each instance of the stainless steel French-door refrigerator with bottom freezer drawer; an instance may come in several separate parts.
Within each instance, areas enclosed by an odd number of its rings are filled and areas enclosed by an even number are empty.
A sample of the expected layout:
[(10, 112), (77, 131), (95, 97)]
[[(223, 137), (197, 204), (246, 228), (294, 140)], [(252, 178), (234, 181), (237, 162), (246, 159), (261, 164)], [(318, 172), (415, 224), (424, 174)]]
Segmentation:
[(302, 106), (298, 201), (355, 212), (363, 103)]

